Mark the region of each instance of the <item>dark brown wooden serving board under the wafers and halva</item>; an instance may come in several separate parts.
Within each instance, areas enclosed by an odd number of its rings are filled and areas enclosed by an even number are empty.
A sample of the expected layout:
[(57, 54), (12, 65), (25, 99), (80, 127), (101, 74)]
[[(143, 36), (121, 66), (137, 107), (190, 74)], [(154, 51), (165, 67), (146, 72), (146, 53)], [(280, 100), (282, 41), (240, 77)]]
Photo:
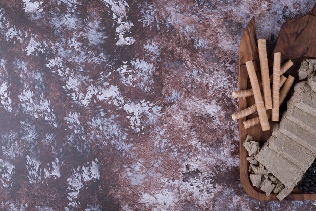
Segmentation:
[[(260, 37), (261, 38), (261, 37)], [(264, 38), (264, 37), (262, 37)], [(271, 55), (274, 52), (281, 52), (281, 63), (285, 63), (288, 59), (291, 59), (294, 65), (284, 75), (292, 75), (295, 77), (294, 85), (298, 82), (298, 69), (301, 62), (306, 58), (316, 58), (316, 5), (305, 16), (296, 18), (285, 22), (279, 32), (279, 36), (276, 41), (276, 46)], [(259, 53), (257, 47), (257, 37), (255, 32), (255, 19), (250, 20), (246, 29), (243, 32), (243, 36), (240, 41), (239, 49), (239, 90), (245, 90), (251, 88), (245, 62), (253, 60), (254, 66), (257, 71), (258, 78), (260, 78), (259, 70)], [(272, 66), (271, 56), (269, 58), (269, 66)], [(270, 68), (271, 69), (271, 68)], [(270, 71), (270, 74), (272, 72)], [(293, 95), (292, 86), (288, 96), (284, 100), (284, 103), (280, 107), (280, 117), (286, 110), (286, 102)], [(239, 98), (239, 110), (243, 110), (254, 104), (254, 98)], [(240, 180), (243, 189), (251, 197), (259, 200), (278, 200), (276, 194), (270, 194), (266, 196), (264, 192), (256, 187), (253, 187), (249, 178), (249, 162), (246, 160), (247, 151), (242, 146), (242, 143), (246, 139), (247, 134), (253, 137), (255, 141), (260, 142), (261, 146), (265, 143), (272, 134), (272, 128), (275, 122), (270, 122), (270, 130), (262, 131), (260, 125), (256, 125), (252, 128), (245, 129), (243, 121), (253, 118), (257, 114), (252, 114), (247, 118), (244, 117), (239, 120), (239, 152), (240, 152)], [(316, 122), (315, 122), (316, 123)], [(316, 140), (315, 140), (316, 141)], [(316, 200), (316, 194), (306, 194), (299, 191), (297, 188), (287, 196), (284, 200)]]

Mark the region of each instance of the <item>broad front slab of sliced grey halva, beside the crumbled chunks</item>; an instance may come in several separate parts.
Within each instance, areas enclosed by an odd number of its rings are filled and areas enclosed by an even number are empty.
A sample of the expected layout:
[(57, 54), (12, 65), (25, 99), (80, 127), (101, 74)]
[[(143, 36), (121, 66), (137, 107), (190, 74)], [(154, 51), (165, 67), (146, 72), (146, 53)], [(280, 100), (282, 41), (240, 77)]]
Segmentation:
[(280, 156), (267, 145), (264, 145), (254, 158), (287, 188), (293, 188), (304, 174), (297, 165)]

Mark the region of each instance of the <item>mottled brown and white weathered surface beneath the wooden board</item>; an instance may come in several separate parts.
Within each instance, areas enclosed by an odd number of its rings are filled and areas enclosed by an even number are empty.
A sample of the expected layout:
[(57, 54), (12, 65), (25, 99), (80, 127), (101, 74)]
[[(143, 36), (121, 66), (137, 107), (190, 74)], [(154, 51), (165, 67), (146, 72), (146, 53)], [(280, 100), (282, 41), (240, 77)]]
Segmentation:
[(314, 210), (239, 180), (239, 41), (315, 1), (0, 1), (1, 210)]

